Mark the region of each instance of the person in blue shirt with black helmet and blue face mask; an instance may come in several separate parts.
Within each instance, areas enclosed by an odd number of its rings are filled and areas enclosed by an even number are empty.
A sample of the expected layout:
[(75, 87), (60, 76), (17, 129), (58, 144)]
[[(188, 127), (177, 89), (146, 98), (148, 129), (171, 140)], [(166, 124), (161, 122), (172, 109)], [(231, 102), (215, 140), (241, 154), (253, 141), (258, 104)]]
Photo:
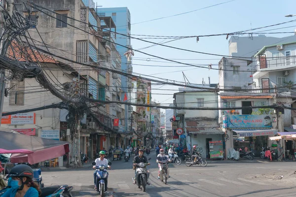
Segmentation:
[(19, 164), (14, 166), (7, 175), (8, 186), (11, 188), (1, 197), (39, 197), (41, 191), (33, 179), (33, 170), (29, 165)]

